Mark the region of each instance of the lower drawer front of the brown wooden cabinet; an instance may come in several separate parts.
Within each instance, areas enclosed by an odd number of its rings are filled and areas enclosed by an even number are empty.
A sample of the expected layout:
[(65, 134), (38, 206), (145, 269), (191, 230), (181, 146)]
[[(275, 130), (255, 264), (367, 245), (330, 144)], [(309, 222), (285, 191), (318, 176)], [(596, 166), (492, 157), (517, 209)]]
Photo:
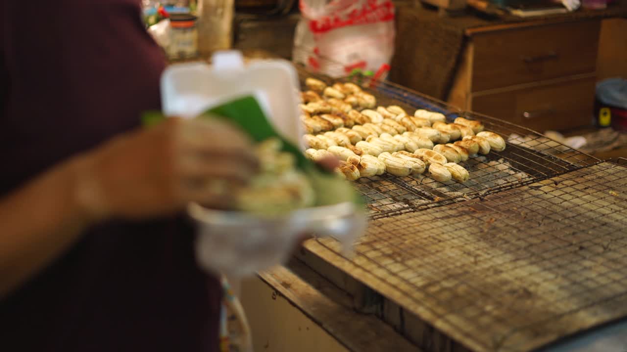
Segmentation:
[(472, 110), (538, 132), (591, 123), (596, 78), (472, 97)]

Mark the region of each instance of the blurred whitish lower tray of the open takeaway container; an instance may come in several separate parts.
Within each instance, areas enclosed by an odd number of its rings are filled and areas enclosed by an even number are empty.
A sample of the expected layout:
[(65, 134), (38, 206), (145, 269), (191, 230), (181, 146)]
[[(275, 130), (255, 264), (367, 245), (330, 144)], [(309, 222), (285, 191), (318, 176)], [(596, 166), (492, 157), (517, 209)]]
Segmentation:
[(350, 202), (295, 210), (271, 219), (198, 204), (190, 204), (188, 214), (198, 225), (199, 265), (229, 277), (249, 276), (282, 264), (297, 241), (308, 234), (334, 237), (348, 252), (366, 229), (366, 215)]

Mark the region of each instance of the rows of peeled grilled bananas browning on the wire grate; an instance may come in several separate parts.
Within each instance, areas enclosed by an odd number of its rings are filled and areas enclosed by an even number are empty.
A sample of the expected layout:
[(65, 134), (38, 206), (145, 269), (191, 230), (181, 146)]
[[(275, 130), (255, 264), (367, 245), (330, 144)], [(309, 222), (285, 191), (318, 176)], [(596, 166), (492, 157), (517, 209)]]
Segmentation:
[(416, 110), (410, 116), (400, 106), (372, 110), (374, 96), (352, 83), (327, 86), (308, 78), (305, 84), (310, 89), (302, 93), (305, 105), (301, 106), (308, 132), (303, 137), (309, 147), (307, 155), (314, 160), (338, 157), (341, 165), (337, 171), (349, 180), (384, 172), (406, 176), (428, 170), (441, 182), (465, 182), (468, 172), (457, 163), (477, 153), (505, 148), (503, 138), (483, 132), (477, 121), (459, 117), (446, 123), (445, 115), (428, 110)]

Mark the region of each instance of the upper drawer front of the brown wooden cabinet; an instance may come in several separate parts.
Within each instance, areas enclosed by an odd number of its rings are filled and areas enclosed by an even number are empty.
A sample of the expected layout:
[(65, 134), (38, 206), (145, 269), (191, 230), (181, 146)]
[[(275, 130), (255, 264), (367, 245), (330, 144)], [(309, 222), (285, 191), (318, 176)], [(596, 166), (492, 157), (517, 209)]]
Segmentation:
[(600, 21), (492, 31), (472, 37), (472, 91), (593, 73)]

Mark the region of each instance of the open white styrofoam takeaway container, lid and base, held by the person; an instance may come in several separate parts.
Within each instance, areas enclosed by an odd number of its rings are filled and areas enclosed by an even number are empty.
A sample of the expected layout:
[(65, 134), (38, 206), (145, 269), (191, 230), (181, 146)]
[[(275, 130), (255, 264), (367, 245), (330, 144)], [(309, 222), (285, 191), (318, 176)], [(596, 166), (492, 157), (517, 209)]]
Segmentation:
[[(234, 98), (253, 95), (275, 129), (303, 148), (298, 76), (287, 61), (258, 61), (245, 66), (239, 52), (217, 53), (213, 66), (169, 66), (162, 76), (161, 90), (164, 113), (188, 118)], [(188, 210), (198, 225), (199, 264), (229, 277), (280, 264), (306, 234), (332, 236), (348, 253), (366, 227), (363, 209), (353, 202), (299, 209), (276, 218), (205, 209), (198, 204), (190, 204)]]

